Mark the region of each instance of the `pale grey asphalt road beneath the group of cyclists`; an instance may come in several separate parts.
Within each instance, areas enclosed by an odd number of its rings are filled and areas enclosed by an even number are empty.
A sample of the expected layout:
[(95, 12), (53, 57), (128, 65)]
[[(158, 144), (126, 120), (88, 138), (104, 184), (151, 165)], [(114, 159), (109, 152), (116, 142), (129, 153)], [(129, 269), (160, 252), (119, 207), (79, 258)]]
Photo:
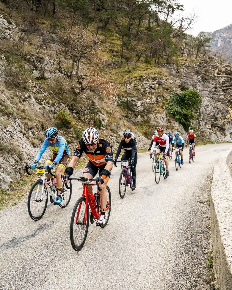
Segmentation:
[(190, 248), (189, 225), (199, 216), (198, 201), (205, 198), (215, 162), (230, 147), (199, 146), (191, 164), (185, 148), (184, 165), (176, 171), (173, 159), (169, 177), (161, 177), (158, 185), (148, 153), (139, 154), (137, 188), (127, 190), (123, 200), (120, 167), (114, 168), (108, 225), (90, 224), (80, 252), (72, 249), (69, 237), (73, 206), (82, 193), (78, 181), (68, 207), (48, 201), (37, 222), (30, 219), (26, 200), (1, 210), (0, 289), (208, 289), (194, 286), (197, 267), (191, 257), (198, 252)]

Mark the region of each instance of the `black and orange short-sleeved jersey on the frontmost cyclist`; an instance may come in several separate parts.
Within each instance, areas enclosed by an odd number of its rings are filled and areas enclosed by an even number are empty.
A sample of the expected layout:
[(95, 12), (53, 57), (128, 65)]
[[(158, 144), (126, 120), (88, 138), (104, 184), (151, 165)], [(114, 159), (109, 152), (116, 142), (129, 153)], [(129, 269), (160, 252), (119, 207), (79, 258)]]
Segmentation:
[(109, 141), (105, 139), (99, 139), (98, 146), (94, 152), (90, 152), (88, 147), (85, 145), (84, 140), (81, 139), (76, 146), (74, 156), (80, 158), (83, 151), (95, 166), (101, 166), (106, 164), (108, 161), (113, 162), (112, 148), (109, 144)]

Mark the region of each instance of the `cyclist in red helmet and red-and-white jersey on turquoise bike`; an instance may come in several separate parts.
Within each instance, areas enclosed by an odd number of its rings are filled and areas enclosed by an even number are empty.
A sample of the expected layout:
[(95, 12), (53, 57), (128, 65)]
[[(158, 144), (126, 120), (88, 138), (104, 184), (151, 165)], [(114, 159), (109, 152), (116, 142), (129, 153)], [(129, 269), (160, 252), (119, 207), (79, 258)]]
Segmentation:
[(167, 168), (165, 176), (167, 178), (169, 175), (169, 172), (168, 172), (169, 137), (166, 134), (164, 134), (164, 129), (161, 127), (157, 128), (157, 132), (158, 134), (153, 139), (151, 152), (154, 151), (154, 148), (156, 146), (156, 141), (157, 141), (159, 143), (159, 146), (156, 150), (156, 153), (159, 154), (159, 153), (164, 152), (164, 157), (165, 157), (164, 162)]

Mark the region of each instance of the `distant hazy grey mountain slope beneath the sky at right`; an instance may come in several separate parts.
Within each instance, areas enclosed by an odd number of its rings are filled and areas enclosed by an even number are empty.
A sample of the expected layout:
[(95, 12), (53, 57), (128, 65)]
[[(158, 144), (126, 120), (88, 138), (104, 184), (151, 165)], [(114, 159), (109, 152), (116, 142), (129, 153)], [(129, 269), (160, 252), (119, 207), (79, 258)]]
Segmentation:
[(206, 36), (211, 37), (211, 51), (226, 62), (232, 62), (232, 24), (214, 32), (207, 32)]

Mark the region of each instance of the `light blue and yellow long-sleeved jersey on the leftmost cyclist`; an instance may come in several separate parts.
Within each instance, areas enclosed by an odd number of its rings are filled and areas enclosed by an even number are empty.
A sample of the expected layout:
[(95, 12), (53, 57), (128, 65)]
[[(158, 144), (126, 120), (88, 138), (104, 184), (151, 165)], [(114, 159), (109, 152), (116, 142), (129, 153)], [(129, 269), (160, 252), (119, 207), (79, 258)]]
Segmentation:
[(40, 161), (41, 156), (43, 155), (44, 151), (46, 150), (46, 148), (48, 146), (51, 148), (53, 153), (57, 155), (54, 162), (53, 162), (54, 164), (57, 164), (63, 155), (70, 155), (70, 151), (68, 149), (68, 144), (67, 144), (67, 141), (65, 140), (64, 137), (58, 136), (58, 140), (57, 140), (56, 144), (54, 144), (54, 145), (51, 145), (49, 143), (48, 139), (46, 138), (43, 141), (42, 146), (40, 147), (40, 151), (37, 153), (37, 155), (35, 157), (35, 161), (38, 161), (38, 162)]

